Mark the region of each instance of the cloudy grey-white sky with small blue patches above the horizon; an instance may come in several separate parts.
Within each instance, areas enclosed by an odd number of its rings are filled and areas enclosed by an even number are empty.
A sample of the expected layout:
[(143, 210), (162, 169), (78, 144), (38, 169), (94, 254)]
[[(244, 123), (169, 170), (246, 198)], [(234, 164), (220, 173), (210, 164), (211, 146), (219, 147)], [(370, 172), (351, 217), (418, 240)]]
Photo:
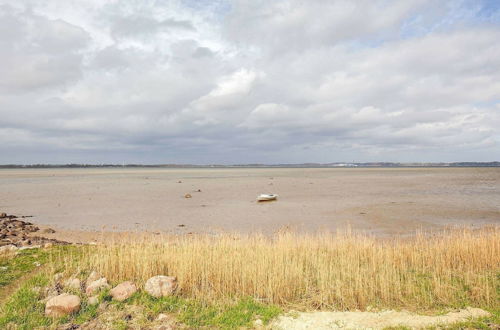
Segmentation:
[(0, 0), (0, 164), (495, 160), (498, 0)]

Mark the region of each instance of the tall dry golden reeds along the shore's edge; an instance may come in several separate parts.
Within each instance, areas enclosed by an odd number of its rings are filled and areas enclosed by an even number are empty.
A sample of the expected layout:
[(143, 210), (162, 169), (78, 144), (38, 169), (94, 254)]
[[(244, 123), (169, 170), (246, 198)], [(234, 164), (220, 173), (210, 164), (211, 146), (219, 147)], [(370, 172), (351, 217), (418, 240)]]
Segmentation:
[[(75, 267), (74, 260), (66, 260)], [(87, 246), (79, 270), (109, 280), (177, 276), (178, 294), (303, 308), (498, 307), (499, 227), (377, 239), (342, 233), (180, 236)]]

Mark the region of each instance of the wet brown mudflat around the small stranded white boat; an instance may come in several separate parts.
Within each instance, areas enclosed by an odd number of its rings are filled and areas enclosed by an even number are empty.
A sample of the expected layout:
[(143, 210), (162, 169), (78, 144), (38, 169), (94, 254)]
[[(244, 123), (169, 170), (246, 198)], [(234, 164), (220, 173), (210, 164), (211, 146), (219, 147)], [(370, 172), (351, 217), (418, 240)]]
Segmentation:
[[(260, 193), (279, 200), (257, 203)], [(0, 212), (32, 215), (73, 240), (102, 230), (272, 233), (284, 226), (390, 236), (500, 225), (500, 168), (2, 169)]]

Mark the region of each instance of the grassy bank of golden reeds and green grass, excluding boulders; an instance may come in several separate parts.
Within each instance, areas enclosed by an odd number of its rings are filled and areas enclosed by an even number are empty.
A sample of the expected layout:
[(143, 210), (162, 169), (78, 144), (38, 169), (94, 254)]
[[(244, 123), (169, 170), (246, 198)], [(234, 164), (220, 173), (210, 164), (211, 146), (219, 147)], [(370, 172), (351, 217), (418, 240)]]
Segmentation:
[[(0, 265), (0, 292), (8, 292), (0, 299), (0, 328), (148, 328), (166, 313), (187, 328), (235, 329), (256, 320), (266, 324), (290, 309), (404, 308), (436, 315), (465, 306), (492, 315), (443, 328), (500, 323), (500, 228), (390, 240), (348, 232), (159, 235), (19, 250), (0, 255)], [(98, 305), (90, 305), (83, 291), (70, 290), (81, 297), (80, 310), (46, 317), (47, 288), (67, 278), (84, 280), (91, 270), (112, 286), (132, 280), (140, 290), (123, 302), (103, 291)], [(63, 280), (55, 280), (56, 273)], [(177, 276), (174, 296), (153, 298), (143, 290), (158, 274)]]

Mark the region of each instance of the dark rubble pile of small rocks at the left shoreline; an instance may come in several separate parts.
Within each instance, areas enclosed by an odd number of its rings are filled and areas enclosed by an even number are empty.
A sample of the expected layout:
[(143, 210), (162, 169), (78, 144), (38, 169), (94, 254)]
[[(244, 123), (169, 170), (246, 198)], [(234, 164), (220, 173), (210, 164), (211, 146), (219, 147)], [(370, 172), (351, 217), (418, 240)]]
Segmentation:
[(43, 246), (46, 244), (69, 244), (56, 239), (33, 236), (33, 233), (36, 232), (48, 233), (47, 230), (54, 232), (54, 230), (50, 228), (40, 231), (40, 228), (31, 222), (20, 220), (15, 215), (0, 213), (0, 247), (8, 245), (23, 247), (34, 245)]

